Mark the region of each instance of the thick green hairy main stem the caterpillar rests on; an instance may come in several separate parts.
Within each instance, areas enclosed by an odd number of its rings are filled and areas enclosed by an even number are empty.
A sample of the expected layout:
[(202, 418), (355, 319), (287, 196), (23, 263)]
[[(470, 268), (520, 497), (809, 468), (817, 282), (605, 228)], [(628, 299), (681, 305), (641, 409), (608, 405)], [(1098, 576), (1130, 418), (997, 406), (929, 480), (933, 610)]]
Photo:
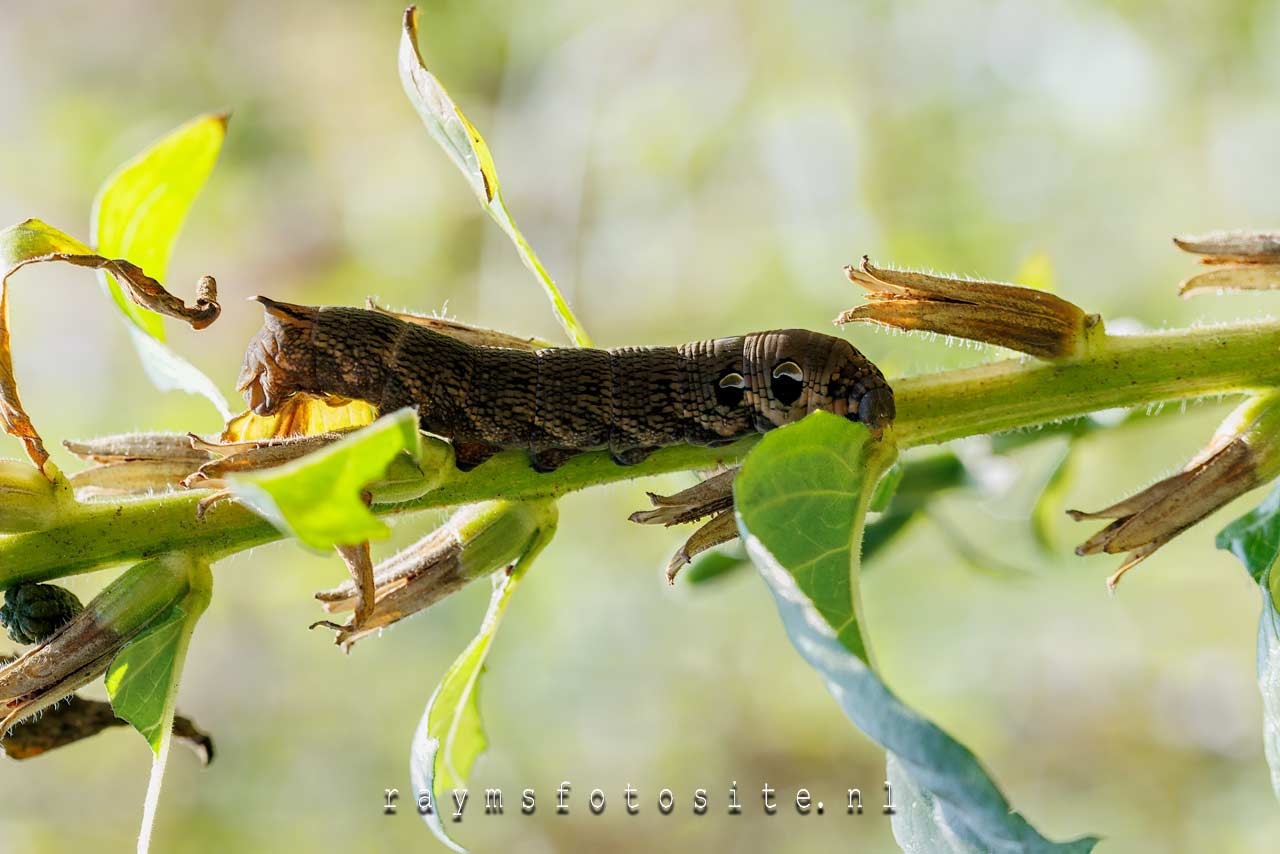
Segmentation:
[[(1103, 335), (1079, 357), (1059, 362), (1012, 359), (978, 367), (908, 376), (893, 383), (900, 449), (966, 435), (1034, 426), (1117, 406), (1280, 388), (1280, 323)], [(379, 513), (503, 498), (556, 498), (600, 484), (741, 460), (750, 437), (724, 448), (677, 446), (636, 466), (586, 453), (552, 474), (538, 474), (518, 451), (475, 471), (451, 471), (412, 501), (378, 504)], [(214, 561), (280, 539), (248, 510), (224, 503), (196, 520), (204, 493), (77, 506), (58, 525), (0, 538), (0, 588), (44, 581), (163, 552), (193, 551)]]

